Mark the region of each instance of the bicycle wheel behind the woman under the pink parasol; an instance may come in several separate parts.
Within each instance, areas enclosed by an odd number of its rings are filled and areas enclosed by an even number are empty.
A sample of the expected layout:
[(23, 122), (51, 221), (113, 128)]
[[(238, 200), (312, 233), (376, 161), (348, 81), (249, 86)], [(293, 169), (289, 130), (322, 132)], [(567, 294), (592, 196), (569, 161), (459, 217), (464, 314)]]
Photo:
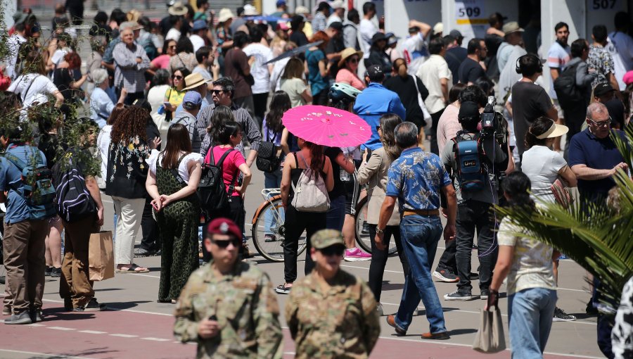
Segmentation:
[[(281, 196), (274, 196), (270, 202), (262, 203), (252, 218), (252, 244), (264, 258), (273, 262), (283, 262), (283, 243), (286, 241), (283, 220)], [(299, 237), (299, 255), (305, 251), (305, 241), (304, 231)]]

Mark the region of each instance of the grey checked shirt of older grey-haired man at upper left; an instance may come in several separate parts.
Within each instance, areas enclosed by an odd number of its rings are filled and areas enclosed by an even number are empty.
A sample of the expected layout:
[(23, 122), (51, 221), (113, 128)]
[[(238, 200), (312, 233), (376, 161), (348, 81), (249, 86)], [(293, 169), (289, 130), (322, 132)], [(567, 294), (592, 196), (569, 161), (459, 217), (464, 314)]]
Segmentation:
[[(115, 87), (124, 87), (127, 92), (145, 91), (145, 70), (150, 66), (149, 58), (143, 46), (134, 43), (132, 49), (120, 42), (113, 51), (115, 61)], [(136, 63), (136, 58), (141, 63)]]

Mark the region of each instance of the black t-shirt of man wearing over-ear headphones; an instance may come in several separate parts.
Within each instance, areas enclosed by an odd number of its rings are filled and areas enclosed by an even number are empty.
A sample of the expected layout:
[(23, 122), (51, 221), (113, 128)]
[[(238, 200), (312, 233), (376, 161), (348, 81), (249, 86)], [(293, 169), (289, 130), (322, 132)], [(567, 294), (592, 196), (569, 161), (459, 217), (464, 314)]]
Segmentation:
[(519, 155), (525, 151), (525, 134), (537, 118), (547, 115), (551, 99), (545, 90), (533, 82), (519, 81), (512, 87), (512, 117)]

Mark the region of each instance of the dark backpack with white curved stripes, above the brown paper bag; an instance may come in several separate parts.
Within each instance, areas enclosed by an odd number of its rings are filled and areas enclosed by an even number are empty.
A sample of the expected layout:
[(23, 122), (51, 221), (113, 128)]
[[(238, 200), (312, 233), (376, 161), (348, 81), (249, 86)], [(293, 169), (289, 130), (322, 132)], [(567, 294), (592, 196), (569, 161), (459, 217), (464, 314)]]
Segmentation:
[(53, 166), (53, 183), (57, 189), (57, 213), (66, 222), (75, 222), (96, 212), (84, 174), (72, 162), (71, 151)]

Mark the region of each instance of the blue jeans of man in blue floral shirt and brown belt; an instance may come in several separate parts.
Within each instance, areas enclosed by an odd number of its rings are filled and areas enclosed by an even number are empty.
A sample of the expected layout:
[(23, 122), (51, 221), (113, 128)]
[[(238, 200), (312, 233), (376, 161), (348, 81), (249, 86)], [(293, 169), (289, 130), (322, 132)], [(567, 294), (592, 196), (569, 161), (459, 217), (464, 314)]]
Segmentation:
[(444, 312), (431, 278), (431, 266), (437, 241), (442, 236), (440, 217), (407, 215), (400, 221), (402, 249), (409, 260), (409, 276), (404, 278), (404, 291), (395, 317), (395, 324), (407, 330), (413, 313), (422, 299), (430, 332), (446, 332)]

